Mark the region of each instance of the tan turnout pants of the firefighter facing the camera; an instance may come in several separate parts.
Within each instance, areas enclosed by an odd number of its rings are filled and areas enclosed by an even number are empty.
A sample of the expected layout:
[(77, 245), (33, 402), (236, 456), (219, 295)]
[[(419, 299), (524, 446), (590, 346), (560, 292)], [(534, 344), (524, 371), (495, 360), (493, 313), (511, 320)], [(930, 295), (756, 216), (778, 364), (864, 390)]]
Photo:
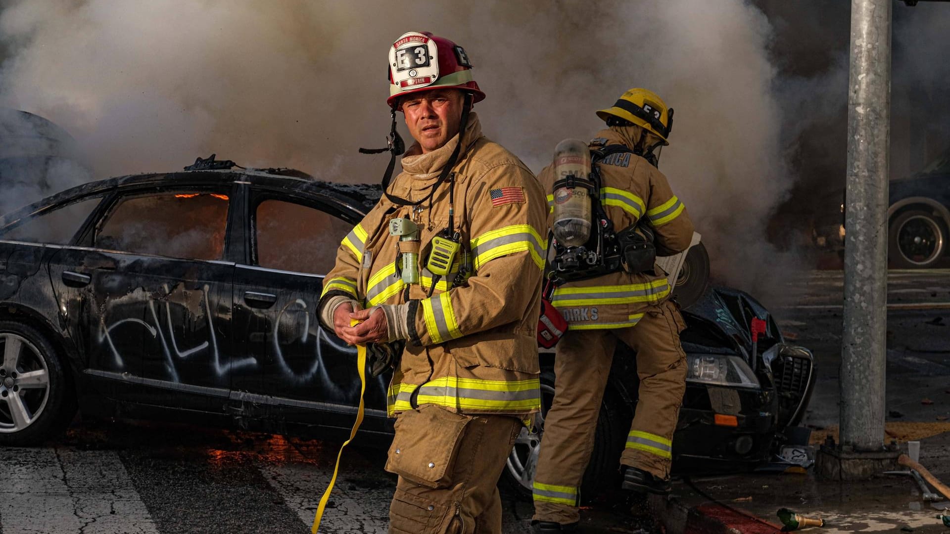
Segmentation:
[(471, 417), (434, 405), (401, 413), (387, 464), (399, 474), (390, 534), (500, 534), (498, 479), (522, 426), (510, 415)]

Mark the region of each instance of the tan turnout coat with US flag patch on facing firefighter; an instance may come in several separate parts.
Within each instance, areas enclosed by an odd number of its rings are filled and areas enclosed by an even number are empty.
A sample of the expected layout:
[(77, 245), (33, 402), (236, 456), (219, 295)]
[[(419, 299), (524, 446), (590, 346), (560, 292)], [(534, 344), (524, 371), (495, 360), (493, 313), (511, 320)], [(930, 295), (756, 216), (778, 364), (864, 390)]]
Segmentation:
[[(418, 144), (410, 148), (390, 194), (410, 200), (428, 195), (455, 143), (458, 136), (428, 154)], [(449, 187), (443, 183), (417, 209), (383, 196), (341, 242), (321, 304), (333, 295), (367, 307), (414, 301), (409, 340), (390, 385), (390, 415), (416, 403), (526, 420), (541, 407), (536, 330), (547, 206), (538, 181), (482, 135), (475, 113), (464, 143), (453, 168), (454, 225), (466, 252), (460, 263), (470, 277), (456, 284), (440, 279), (427, 296), (430, 241), (448, 223)], [(396, 269), (399, 238), (389, 234), (390, 219), (404, 216), (416, 220), (421, 234), (421, 283), (409, 286)]]

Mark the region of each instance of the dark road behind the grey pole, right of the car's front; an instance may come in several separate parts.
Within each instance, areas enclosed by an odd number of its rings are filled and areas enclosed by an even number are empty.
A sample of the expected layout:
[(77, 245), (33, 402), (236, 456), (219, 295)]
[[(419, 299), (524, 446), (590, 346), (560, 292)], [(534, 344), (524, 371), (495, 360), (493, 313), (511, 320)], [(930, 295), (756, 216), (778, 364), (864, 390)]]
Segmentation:
[[(950, 270), (892, 270), (887, 280), (887, 421), (950, 421)], [(838, 425), (843, 328), (841, 271), (788, 281), (772, 309), (789, 342), (815, 355), (818, 380), (803, 424)]]

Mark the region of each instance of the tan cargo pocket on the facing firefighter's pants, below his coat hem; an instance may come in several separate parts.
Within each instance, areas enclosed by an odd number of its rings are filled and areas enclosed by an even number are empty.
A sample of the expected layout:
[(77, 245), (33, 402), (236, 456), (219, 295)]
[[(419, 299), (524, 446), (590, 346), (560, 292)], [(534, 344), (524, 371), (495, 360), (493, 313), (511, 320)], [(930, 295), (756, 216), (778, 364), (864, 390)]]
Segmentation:
[(433, 489), (450, 486), (456, 453), (470, 421), (471, 417), (431, 404), (402, 412), (386, 470)]

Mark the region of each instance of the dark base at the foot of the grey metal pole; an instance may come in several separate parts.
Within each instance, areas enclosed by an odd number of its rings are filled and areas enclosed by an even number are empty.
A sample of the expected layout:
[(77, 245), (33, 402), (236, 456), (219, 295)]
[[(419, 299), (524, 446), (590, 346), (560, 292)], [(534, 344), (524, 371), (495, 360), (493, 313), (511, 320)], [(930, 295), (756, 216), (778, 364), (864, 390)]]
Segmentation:
[(900, 455), (901, 450), (895, 442), (880, 450), (867, 451), (838, 446), (828, 438), (815, 457), (815, 477), (843, 482), (868, 480), (883, 471), (900, 469), (897, 463)]

